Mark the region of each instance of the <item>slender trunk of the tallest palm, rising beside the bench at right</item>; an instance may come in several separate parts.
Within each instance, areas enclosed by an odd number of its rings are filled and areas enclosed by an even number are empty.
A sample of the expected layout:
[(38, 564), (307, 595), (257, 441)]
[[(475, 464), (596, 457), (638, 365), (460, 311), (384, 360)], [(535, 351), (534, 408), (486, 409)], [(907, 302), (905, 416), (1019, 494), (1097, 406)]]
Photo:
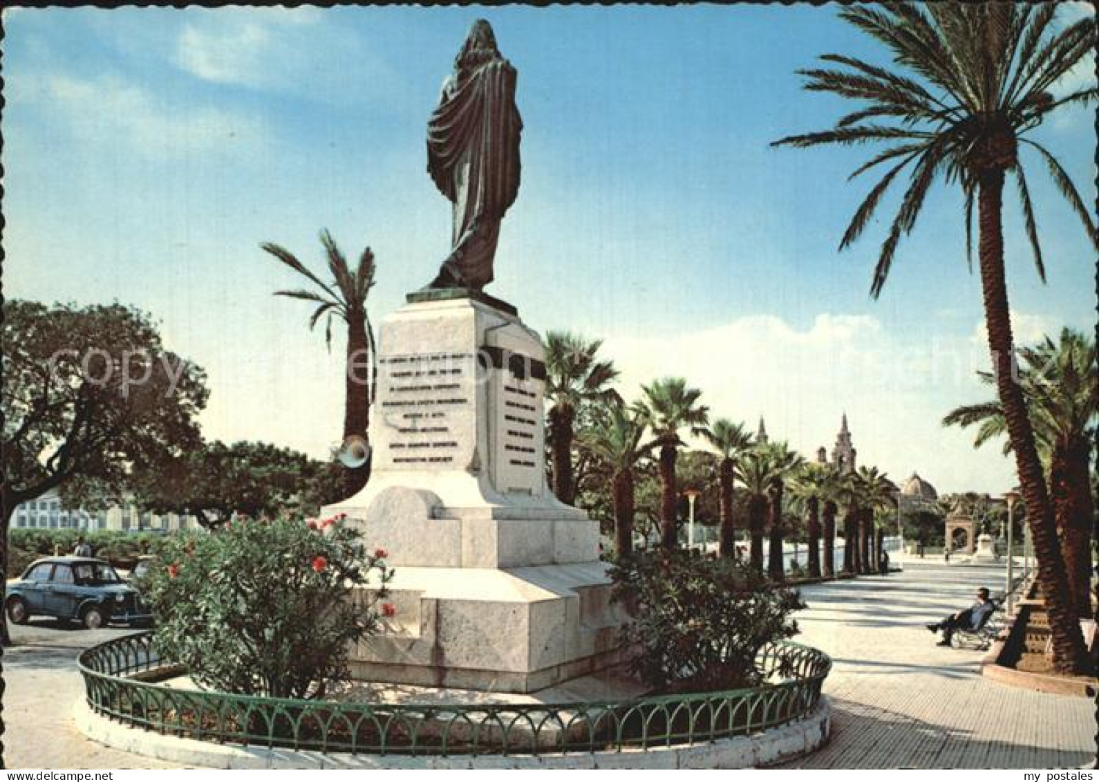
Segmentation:
[(1007, 419), (1008, 437), (1015, 456), (1019, 483), (1026, 503), (1026, 524), (1030, 525), (1034, 542), (1039, 579), (1042, 581), (1045, 610), (1050, 618), (1054, 665), (1063, 673), (1081, 673), (1088, 668), (1084, 634), (1080, 632), (1080, 625), (1073, 610), (1065, 563), (1057, 544), (1053, 507), (1034, 445), (1034, 431), (1026, 416), (1026, 403), (1022, 388), (1013, 376), (1014, 344), (1003, 274), (1003, 234), (1000, 222), (1003, 172), (981, 172), (979, 187), (977, 207), (980, 227), (980, 282), (985, 298), (988, 350), (992, 357), (1003, 417)]

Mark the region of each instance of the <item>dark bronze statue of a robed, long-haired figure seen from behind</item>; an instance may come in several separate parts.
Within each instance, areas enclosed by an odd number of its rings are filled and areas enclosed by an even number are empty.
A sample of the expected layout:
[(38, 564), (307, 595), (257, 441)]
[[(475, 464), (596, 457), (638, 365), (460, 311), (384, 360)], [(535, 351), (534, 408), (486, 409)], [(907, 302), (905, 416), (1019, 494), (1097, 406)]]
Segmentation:
[(488, 22), (475, 23), (428, 122), (428, 172), (454, 205), (451, 253), (429, 287), (492, 280), (500, 221), (519, 192), (515, 77)]

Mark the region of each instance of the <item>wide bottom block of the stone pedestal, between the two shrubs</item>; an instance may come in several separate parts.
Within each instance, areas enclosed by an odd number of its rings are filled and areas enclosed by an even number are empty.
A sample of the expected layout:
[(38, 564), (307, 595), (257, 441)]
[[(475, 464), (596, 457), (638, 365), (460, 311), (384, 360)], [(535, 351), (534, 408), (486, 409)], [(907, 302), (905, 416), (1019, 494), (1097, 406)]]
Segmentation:
[(397, 617), (359, 642), (367, 681), (531, 693), (622, 662), (604, 565), (400, 568)]

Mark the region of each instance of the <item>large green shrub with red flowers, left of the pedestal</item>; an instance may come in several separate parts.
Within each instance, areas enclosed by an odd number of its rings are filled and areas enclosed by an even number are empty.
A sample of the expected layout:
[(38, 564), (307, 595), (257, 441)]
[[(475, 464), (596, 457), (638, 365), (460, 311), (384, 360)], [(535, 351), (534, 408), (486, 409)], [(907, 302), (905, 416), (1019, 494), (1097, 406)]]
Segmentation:
[(384, 602), (393, 571), (379, 553), (341, 517), (237, 519), (176, 536), (146, 583), (154, 643), (203, 687), (320, 697), (347, 678), (348, 645), (397, 613)]

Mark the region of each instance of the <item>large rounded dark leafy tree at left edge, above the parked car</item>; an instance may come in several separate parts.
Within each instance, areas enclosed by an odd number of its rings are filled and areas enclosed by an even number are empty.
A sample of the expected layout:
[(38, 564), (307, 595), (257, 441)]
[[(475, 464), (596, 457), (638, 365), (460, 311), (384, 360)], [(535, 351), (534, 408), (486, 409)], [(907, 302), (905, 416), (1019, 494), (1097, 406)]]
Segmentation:
[(118, 304), (5, 301), (3, 344), (0, 583), (16, 506), (75, 481), (125, 493), (198, 443), (208, 395), (202, 371), (164, 346), (148, 316)]

